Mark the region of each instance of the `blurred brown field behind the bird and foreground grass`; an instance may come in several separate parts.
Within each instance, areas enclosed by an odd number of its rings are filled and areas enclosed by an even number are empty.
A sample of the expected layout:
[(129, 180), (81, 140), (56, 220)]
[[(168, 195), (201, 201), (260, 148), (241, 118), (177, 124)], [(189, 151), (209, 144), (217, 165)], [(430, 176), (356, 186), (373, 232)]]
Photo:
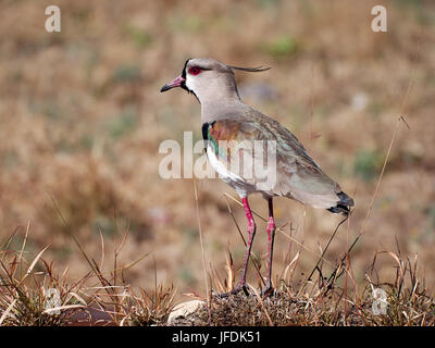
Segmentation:
[[(54, 3), (55, 2), (55, 3)], [(45, 9), (61, 9), (61, 33), (47, 33)], [(371, 28), (372, 7), (387, 9), (387, 33)], [(113, 266), (115, 248), (133, 286), (174, 284), (204, 294), (192, 179), (162, 179), (165, 139), (201, 138), (200, 107), (160, 87), (186, 59), (211, 57), (240, 66), (243, 99), (278, 120), (324, 171), (353, 196), (356, 210), (325, 258), (333, 264), (360, 232), (400, 114), (385, 176), (363, 235), (351, 253), (357, 283), (376, 251), (419, 256), (435, 282), (435, 3), (433, 1), (8, 1), (0, 2), (0, 241), (45, 253), (72, 278), (89, 271), (86, 253)], [(219, 179), (196, 181), (207, 268), (225, 276), (229, 249), (241, 268), (243, 209)], [(266, 215), (261, 197), (251, 207)], [(340, 216), (276, 199), (274, 278), (301, 251), (293, 282), (303, 277)], [(264, 262), (265, 224), (253, 246)], [(303, 245), (303, 248), (300, 247)], [(314, 252), (314, 253), (313, 253)], [(380, 277), (395, 262), (380, 256)], [(328, 275), (331, 269), (324, 265)], [(257, 285), (253, 268), (248, 281)]]

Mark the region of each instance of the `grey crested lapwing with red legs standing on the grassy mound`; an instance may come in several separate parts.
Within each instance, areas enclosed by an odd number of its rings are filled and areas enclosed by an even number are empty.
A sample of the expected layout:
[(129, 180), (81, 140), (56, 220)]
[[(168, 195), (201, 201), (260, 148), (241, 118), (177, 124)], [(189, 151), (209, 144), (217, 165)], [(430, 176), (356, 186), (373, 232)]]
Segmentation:
[[(246, 274), (257, 231), (248, 196), (261, 194), (268, 201), (268, 274), (263, 294), (271, 294), (274, 290), (272, 285), (273, 245), (276, 229), (273, 213), (274, 197), (286, 197), (312, 208), (326, 209), (332, 213), (346, 216), (355, 206), (353, 199), (321, 170), (290, 130), (240, 99), (235, 71), (258, 73), (269, 69), (227, 65), (211, 58), (191, 58), (185, 62), (182, 74), (160, 90), (164, 92), (181, 87), (196, 97), (201, 105), (201, 129), (203, 140), (207, 142), (208, 160), (220, 178), (233, 187), (241, 199), (248, 233), (241, 276), (235, 288), (221, 294), (222, 296), (235, 295), (240, 290), (248, 294)], [(269, 145), (264, 146), (268, 149), (260, 151), (257, 151), (257, 148), (253, 151), (240, 149), (238, 144), (244, 141), (248, 144), (269, 141), (274, 151), (268, 152)], [(228, 146), (229, 142), (233, 145)], [(257, 171), (246, 175), (245, 172), (236, 171), (237, 165), (229, 165), (229, 159), (233, 159), (234, 153), (244, 157), (244, 163), (249, 162), (249, 157), (252, 162), (263, 154), (265, 159), (263, 158), (263, 162), (260, 159), (261, 164), (268, 160), (268, 154), (273, 153), (276, 177), (270, 181), (269, 185), (264, 185), (264, 175), (256, 174)]]

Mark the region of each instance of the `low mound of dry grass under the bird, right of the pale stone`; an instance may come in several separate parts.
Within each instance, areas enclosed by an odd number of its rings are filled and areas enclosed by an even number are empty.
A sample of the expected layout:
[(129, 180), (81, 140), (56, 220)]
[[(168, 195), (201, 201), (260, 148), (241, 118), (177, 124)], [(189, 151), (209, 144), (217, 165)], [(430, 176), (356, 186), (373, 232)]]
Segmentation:
[[(389, 303), (385, 314), (372, 311), (373, 295), (366, 286), (356, 300), (344, 298), (343, 289), (320, 291), (319, 295), (298, 295), (283, 286), (275, 296), (262, 299), (244, 294), (221, 299), (214, 298), (211, 308), (178, 319), (173, 325), (213, 326), (434, 326), (435, 303), (424, 291), (406, 289), (398, 294), (393, 284), (383, 286)], [(418, 287), (418, 286), (417, 286)], [(346, 309), (344, 302), (346, 301)], [(211, 315), (209, 314), (211, 313)]]

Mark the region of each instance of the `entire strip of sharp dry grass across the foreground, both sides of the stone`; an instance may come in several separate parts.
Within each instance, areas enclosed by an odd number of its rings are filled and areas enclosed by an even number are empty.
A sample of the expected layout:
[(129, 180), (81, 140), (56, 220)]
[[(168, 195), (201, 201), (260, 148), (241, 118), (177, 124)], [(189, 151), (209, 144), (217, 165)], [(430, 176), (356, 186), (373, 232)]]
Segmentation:
[[(139, 295), (136, 295), (123, 279), (122, 270), (114, 268), (109, 277), (86, 254), (84, 258), (91, 271), (72, 283), (66, 271), (59, 275), (53, 264), (44, 260), (46, 250), (42, 249), (32, 262), (21, 251), (0, 254), (0, 325), (166, 325), (174, 308), (176, 291), (173, 287), (165, 289), (156, 283), (152, 291), (139, 288)], [(396, 263), (393, 283), (377, 278), (376, 262), (383, 253)], [(294, 266), (296, 261), (291, 260), (288, 266)], [(226, 269), (224, 282), (217, 273), (209, 274), (217, 285), (217, 291), (231, 290), (235, 284), (231, 253)], [(347, 270), (351, 278), (349, 288), (340, 282), (345, 273), (340, 270)], [(171, 325), (435, 325), (434, 299), (427, 294), (417, 256), (410, 260), (402, 259), (400, 251), (376, 253), (362, 290), (356, 287), (351, 266), (346, 264), (337, 264), (328, 277), (321, 268), (316, 268), (315, 273), (319, 274), (316, 281), (307, 279), (297, 286), (293, 285), (291, 277), (278, 279), (275, 293), (269, 297), (261, 297), (252, 286), (249, 296), (243, 293), (228, 298), (212, 295), (209, 304), (186, 318), (175, 319)], [(53, 289), (55, 293), (50, 293)], [(373, 309), (378, 289), (386, 294), (384, 303), (387, 306), (382, 313)], [(53, 294), (58, 296), (55, 301), (52, 301)]]

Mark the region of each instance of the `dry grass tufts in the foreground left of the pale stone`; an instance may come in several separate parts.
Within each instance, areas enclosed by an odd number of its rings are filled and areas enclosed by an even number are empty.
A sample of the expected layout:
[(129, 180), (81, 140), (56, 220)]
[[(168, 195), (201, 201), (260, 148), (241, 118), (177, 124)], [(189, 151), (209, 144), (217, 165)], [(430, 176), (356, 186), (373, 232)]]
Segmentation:
[[(5, 250), (10, 240), (3, 246)], [(59, 275), (53, 263), (44, 260), (48, 247), (29, 262), (23, 253), (24, 246), (25, 241), (20, 252), (7, 250), (0, 254), (0, 325), (149, 326), (166, 322), (173, 308), (174, 288), (156, 284), (153, 290), (139, 288), (136, 295), (123, 278), (123, 271), (133, 264), (116, 268), (115, 263), (105, 274), (94, 259), (83, 253), (90, 271), (73, 282), (67, 270)]]

